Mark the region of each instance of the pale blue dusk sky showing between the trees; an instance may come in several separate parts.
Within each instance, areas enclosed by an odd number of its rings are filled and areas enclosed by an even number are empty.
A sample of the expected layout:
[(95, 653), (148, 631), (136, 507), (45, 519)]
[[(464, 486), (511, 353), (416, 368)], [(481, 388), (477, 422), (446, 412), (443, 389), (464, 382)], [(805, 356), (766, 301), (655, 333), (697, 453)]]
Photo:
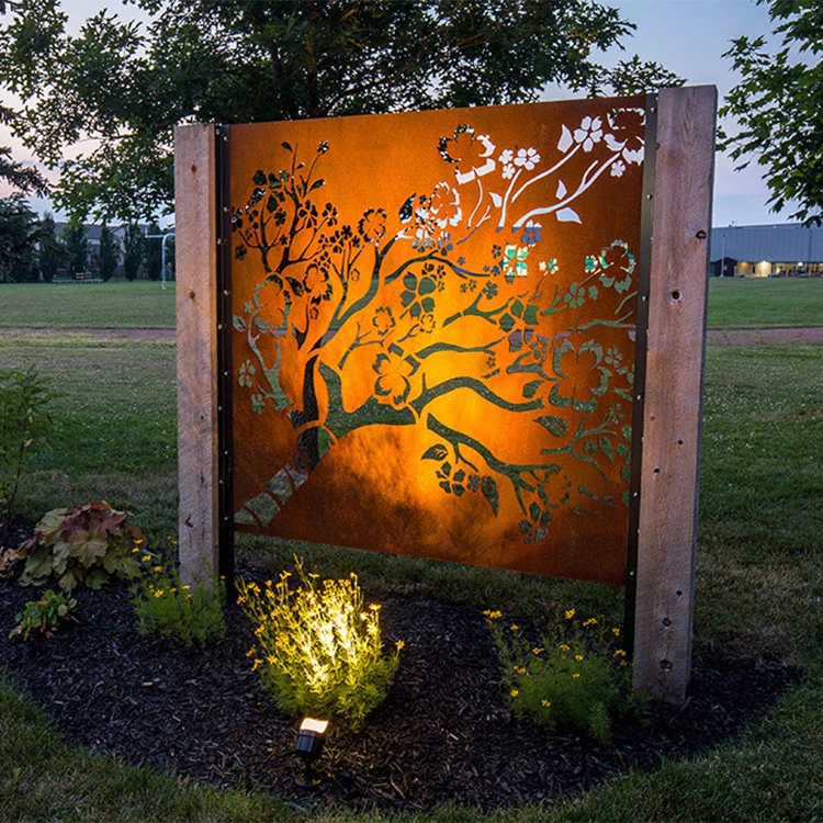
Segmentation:
[[(613, 65), (621, 58), (639, 54), (643, 60), (656, 60), (687, 79), (690, 86), (711, 83), (718, 87), (720, 100), (735, 83), (729, 59), (722, 54), (731, 41), (741, 35), (769, 35), (771, 27), (767, 5), (755, 0), (604, 0), (617, 7), (623, 18), (636, 24), (633, 37), (625, 41), (625, 50), (613, 49), (602, 61)], [(100, 8), (125, 9), (135, 14), (133, 5), (121, 7), (117, 0), (64, 0), (74, 26)], [(557, 97), (551, 89), (545, 99)], [(733, 124), (730, 124), (733, 125)], [(25, 151), (0, 131), (0, 145), (12, 145), (15, 159), (26, 160)], [(768, 192), (756, 164), (744, 172), (735, 172), (733, 161), (724, 155), (715, 160), (713, 224), (726, 226), (785, 223), (789, 212), (769, 212)], [(35, 207), (43, 210), (43, 203)]]

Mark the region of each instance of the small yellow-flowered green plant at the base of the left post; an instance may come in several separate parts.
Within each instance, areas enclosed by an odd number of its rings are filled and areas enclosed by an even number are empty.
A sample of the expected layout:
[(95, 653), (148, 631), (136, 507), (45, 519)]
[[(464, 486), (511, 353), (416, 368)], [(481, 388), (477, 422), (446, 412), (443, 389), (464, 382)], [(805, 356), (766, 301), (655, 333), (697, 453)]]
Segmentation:
[(132, 586), (132, 604), (140, 634), (157, 632), (177, 638), (188, 646), (196, 643), (201, 647), (225, 636), (223, 582), (184, 584), (173, 564), (158, 562), (148, 553), (140, 555), (140, 563), (142, 572)]

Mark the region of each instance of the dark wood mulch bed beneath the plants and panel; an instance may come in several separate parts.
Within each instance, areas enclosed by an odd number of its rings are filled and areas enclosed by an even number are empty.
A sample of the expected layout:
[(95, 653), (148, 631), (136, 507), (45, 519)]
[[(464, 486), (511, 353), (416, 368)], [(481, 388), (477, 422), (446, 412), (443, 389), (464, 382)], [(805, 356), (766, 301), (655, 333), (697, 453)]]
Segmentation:
[(384, 638), (406, 647), (388, 699), (361, 731), (331, 729), (327, 778), (306, 790), (294, 785), (293, 720), (251, 672), (251, 625), (237, 607), (227, 609), (226, 639), (201, 652), (138, 635), (122, 584), (76, 596), (79, 623), (50, 640), (7, 641), (33, 590), (0, 580), (0, 670), (66, 739), (300, 807), (426, 810), (453, 801), (492, 810), (551, 801), (735, 737), (800, 678), (776, 662), (702, 655), (683, 706), (652, 704), (644, 723), (623, 722), (604, 746), (511, 717), (478, 609), (391, 595), (381, 598)]

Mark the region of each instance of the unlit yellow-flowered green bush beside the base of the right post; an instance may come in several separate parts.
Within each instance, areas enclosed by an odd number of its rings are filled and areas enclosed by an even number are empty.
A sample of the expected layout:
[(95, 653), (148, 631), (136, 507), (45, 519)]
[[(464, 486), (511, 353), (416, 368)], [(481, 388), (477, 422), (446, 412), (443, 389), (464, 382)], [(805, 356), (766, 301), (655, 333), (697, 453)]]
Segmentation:
[(499, 654), (506, 697), (518, 718), (608, 743), (612, 718), (638, 708), (627, 654), (617, 645), (619, 628), (607, 632), (602, 619), (579, 621), (568, 609), (534, 642), (520, 625), (505, 627), (501, 612), (484, 615)]

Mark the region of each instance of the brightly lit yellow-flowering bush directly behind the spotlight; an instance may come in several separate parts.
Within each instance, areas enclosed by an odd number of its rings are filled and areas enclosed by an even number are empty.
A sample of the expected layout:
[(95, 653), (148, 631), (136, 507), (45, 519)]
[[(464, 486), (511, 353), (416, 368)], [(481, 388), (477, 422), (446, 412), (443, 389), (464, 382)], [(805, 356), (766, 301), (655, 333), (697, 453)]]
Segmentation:
[(385, 655), (380, 606), (363, 605), (357, 575), (323, 580), (295, 560), (291, 573), (264, 589), (238, 583), (238, 602), (253, 623), (257, 644), (249, 650), (263, 686), (291, 714), (338, 718), (357, 728), (386, 697), (403, 641)]

